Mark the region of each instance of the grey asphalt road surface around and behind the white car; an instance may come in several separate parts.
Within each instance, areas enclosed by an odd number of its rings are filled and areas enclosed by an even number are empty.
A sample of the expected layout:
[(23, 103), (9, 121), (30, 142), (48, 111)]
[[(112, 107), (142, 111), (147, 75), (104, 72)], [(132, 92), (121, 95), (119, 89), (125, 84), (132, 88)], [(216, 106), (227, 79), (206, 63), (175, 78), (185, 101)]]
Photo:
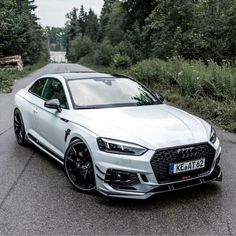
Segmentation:
[(218, 129), (222, 183), (155, 196), (146, 201), (76, 192), (63, 168), (33, 146), (17, 145), (14, 93), (39, 75), (88, 70), (49, 64), (0, 94), (0, 234), (236, 235), (236, 135)]

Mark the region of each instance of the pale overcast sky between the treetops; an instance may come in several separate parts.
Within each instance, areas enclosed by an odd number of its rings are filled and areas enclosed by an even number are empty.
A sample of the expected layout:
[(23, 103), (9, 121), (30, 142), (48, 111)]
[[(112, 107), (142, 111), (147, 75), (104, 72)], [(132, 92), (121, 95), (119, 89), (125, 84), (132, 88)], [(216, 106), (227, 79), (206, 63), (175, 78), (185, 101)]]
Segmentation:
[(81, 4), (86, 11), (92, 8), (100, 15), (103, 0), (35, 0), (35, 3), (38, 6), (36, 15), (42, 26), (62, 27), (66, 22), (66, 13), (73, 7), (80, 8)]

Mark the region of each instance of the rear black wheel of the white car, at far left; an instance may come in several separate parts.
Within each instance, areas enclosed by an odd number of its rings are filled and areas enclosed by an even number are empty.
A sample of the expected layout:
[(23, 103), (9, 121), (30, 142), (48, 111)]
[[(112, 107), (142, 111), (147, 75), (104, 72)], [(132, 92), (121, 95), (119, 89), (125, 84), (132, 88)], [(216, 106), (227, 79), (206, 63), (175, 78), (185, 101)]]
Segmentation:
[(14, 132), (18, 144), (20, 144), (21, 146), (25, 146), (28, 144), (25, 135), (23, 118), (19, 109), (15, 109), (14, 111)]

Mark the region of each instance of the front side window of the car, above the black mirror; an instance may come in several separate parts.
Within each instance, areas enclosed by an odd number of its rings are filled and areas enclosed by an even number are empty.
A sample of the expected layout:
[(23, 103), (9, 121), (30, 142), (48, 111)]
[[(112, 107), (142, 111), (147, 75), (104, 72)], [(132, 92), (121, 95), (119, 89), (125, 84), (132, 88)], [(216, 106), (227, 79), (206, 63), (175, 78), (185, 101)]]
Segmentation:
[(61, 107), (68, 109), (68, 103), (64, 93), (61, 82), (57, 79), (48, 79), (45, 87), (43, 88), (41, 97), (45, 100), (57, 98)]

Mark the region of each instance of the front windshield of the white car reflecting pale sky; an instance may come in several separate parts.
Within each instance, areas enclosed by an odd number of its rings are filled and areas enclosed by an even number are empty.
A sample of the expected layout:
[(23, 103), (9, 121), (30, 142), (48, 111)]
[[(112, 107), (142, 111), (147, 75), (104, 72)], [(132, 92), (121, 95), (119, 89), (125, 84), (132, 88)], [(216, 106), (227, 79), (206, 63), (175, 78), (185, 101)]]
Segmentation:
[(150, 92), (127, 78), (93, 78), (68, 81), (75, 108), (160, 104)]

